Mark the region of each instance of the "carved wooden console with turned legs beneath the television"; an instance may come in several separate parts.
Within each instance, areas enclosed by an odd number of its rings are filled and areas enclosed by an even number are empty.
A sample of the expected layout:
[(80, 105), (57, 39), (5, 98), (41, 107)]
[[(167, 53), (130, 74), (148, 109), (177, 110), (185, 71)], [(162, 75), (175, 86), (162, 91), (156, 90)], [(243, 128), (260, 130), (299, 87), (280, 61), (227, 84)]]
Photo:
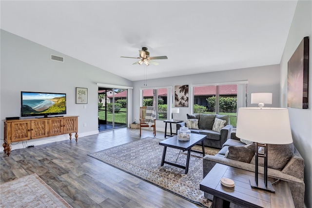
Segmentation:
[(31, 118), (4, 120), (4, 153), (10, 156), (11, 143), (39, 139), (43, 137), (52, 137), (62, 134), (69, 134), (72, 139), (72, 133), (76, 133), (76, 142), (78, 141), (78, 116), (59, 116), (49, 118)]

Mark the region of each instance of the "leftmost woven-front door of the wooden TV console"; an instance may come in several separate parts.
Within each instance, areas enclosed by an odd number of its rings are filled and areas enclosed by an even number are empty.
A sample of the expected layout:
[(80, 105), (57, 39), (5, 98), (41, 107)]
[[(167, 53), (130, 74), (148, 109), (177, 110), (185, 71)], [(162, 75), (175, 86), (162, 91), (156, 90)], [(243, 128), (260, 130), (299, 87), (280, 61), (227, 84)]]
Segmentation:
[[(24, 140), (30, 140), (30, 121), (11, 122), (11, 141), (18, 142)], [(8, 132), (9, 133), (9, 132)]]

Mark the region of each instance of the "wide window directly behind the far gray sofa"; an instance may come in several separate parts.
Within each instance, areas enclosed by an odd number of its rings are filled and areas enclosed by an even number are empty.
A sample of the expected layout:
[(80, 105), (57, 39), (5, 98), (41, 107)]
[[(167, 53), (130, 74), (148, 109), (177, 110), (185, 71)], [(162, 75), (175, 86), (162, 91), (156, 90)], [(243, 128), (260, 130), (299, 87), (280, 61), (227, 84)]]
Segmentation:
[[(238, 107), (245, 107), (246, 104), (246, 87), (247, 84), (245, 83), (194, 86), (193, 112), (229, 115), (230, 124), (235, 127), (237, 109)], [(237, 99), (239, 97), (240, 100), (243, 99), (243, 102), (238, 102), (237, 104)]]

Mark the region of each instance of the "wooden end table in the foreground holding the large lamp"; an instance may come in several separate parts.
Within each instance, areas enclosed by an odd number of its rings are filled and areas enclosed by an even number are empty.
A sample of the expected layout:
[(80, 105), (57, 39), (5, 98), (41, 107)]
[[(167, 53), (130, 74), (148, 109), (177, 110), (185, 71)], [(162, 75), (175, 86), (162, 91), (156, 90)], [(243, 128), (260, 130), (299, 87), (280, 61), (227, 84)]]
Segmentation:
[[(232, 179), (235, 186), (221, 185), (222, 177)], [(199, 187), (200, 190), (214, 195), (213, 208), (229, 207), (230, 202), (248, 208), (294, 208), (290, 186), (286, 181), (278, 181), (273, 185), (275, 193), (272, 193), (252, 188), (250, 178), (254, 179), (254, 172), (217, 163)]]

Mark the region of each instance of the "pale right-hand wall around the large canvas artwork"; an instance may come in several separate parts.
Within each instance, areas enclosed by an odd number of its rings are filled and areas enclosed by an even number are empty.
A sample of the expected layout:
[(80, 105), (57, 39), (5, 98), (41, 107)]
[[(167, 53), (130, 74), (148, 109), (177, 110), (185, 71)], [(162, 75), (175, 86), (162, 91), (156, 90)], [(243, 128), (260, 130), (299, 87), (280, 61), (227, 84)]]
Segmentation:
[(309, 109), (288, 108), (292, 127), (293, 143), (305, 163), (305, 206), (312, 207), (312, 1), (299, 0), (292, 20), (292, 26), (280, 63), (281, 105), (287, 107), (287, 63), (299, 43), (310, 37), (309, 56)]

